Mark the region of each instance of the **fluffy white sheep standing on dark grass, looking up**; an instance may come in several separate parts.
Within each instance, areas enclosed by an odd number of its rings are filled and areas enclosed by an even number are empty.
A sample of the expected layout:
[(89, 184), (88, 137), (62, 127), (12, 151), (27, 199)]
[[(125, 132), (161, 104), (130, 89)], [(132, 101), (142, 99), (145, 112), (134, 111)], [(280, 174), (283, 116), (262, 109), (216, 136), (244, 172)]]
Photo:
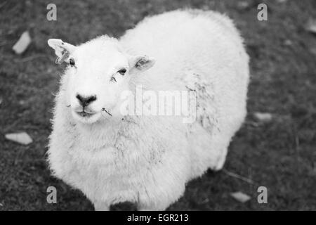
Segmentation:
[[(165, 210), (191, 179), (223, 168), (246, 116), (249, 56), (225, 15), (177, 10), (145, 18), (119, 39), (48, 45), (66, 62), (55, 97), (48, 163), (96, 210), (131, 202)], [(195, 93), (194, 122), (183, 116), (123, 115), (121, 94)], [(142, 100), (143, 101), (143, 100)]]

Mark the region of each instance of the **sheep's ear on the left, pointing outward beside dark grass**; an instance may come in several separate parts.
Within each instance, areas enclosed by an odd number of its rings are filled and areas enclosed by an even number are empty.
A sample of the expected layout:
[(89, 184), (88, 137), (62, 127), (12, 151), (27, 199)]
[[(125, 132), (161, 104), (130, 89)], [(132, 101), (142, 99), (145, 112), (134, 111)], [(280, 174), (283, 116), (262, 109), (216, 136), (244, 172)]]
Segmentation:
[(61, 39), (49, 39), (48, 45), (55, 50), (55, 54), (58, 57), (56, 63), (61, 64), (62, 62), (69, 60), (70, 54), (74, 51), (76, 46), (68, 44)]

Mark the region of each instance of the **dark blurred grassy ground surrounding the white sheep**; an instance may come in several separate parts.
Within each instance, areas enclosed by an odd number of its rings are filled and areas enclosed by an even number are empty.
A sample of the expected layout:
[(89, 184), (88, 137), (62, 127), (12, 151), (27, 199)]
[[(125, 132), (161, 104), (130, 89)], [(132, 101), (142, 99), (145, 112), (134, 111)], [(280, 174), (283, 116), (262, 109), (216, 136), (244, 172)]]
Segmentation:
[[(316, 2), (265, 1), (268, 21), (256, 19), (259, 3), (246, 1), (107, 0), (53, 1), (58, 20), (46, 20), (51, 1), (0, 1), (0, 210), (93, 210), (79, 191), (53, 179), (46, 167), (53, 93), (62, 68), (54, 64), (48, 38), (79, 44), (99, 34), (115, 37), (146, 15), (176, 8), (215, 9), (234, 18), (251, 56), (249, 117), (230, 145), (225, 169), (207, 172), (187, 185), (170, 210), (316, 210), (316, 37), (305, 31), (316, 18)], [(29, 30), (32, 44), (22, 56), (11, 47)], [(272, 113), (269, 123), (252, 113)], [(7, 141), (8, 132), (27, 131), (34, 142)], [(58, 189), (58, 204), (46, 203), (46, 188)], [(257, 203), (258, 186), (268, 204)], [(251, 195), (247, 203), (231, 192)]]

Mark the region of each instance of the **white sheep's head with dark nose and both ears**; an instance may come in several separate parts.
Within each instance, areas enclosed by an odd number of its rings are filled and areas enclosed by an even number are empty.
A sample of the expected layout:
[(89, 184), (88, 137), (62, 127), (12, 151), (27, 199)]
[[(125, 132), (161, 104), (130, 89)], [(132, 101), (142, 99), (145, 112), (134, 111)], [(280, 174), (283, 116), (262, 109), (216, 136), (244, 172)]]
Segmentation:
[(72, 116), (91, 124), (110, 117), (121, 117), (122, 91), (129, 90), (133, 75), (154, 65), (147, 56), (131, 56), (117, 39), (99, 37), (73, 46), (60, 39), (49, 39), (56, 63), (68, 63), (66, 98)]

